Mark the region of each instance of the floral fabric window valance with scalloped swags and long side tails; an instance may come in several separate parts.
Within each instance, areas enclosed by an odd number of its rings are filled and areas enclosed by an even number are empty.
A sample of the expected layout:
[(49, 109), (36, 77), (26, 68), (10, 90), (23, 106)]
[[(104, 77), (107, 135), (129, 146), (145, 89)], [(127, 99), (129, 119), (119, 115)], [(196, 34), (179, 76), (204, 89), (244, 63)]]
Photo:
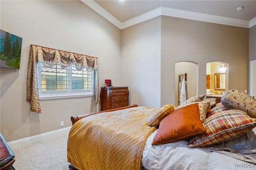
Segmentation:
[(99, 93), (99, 63), (97, 57), (60, 51), (38, 45), (30, 45), (27, 74), (27, 97), (30, 102), (30, 111), (42, 113), (39, 98), (38, 82), (38, 61), (41, 61), (45, 67), (52, 67), (59, 63), (62, 68), (66, 68), (71, 63), (76, 63), (76, 69), (86, 68), (88, 71), (96, 69), (96, 105), (100, 101)]

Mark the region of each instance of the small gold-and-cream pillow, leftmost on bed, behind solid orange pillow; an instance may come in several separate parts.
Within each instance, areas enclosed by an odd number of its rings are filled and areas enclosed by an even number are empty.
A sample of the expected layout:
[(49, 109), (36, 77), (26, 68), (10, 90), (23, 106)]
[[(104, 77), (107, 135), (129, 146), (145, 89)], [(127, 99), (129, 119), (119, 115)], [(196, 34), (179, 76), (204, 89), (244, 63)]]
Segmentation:
[(148, 120), (148, 125), (152, 127), (158, 126), (160, 121), (164, 119), (164, 117), (172, 113), (172, 111), (174, 111), (175, 108), (176, 107), (174, 107), (171, 104), (162, 106), (160, 109), (158, 109), (158, 111), (156, 111), (156, 113), (150, 116)]

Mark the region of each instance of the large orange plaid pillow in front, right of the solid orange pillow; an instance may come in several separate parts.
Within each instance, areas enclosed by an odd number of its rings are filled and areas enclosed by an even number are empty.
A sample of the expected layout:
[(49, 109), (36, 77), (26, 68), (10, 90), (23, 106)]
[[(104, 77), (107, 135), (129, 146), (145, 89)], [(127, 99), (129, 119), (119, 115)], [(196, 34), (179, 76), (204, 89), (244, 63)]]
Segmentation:
[(238, 138), (256, 127), (253, 119), (240, 110), (216, 113), (204, 121), (206, 132), (189, 140), (188, 147), (200, 147)]

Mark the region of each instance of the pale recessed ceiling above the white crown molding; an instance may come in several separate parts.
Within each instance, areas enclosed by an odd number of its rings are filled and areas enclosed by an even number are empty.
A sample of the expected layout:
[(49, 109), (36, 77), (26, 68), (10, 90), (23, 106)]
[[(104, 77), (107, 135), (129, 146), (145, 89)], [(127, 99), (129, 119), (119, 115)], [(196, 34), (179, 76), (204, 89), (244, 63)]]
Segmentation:
[[(159, 7), (174, 8), (215, 16), (252, 20), (256, 0), (94, 0), (120, 22), (125, 22)], [(236, 8), (244, 7), (241, 11)]]

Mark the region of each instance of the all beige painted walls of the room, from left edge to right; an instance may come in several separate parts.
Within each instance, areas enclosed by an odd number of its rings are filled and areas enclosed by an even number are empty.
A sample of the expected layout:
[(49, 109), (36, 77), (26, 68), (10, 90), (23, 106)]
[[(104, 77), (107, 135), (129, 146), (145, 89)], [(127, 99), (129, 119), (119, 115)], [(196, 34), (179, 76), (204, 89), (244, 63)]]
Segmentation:
[[(19, 70), (0, 68), (0, 130), (7, 142), (71, 126), (70, 116), (98, 110), (93, 97), (44, 100), (30, 113), (26, 73), (31, 44), (99, 58), (100, 83), (128, 86), (130, 104), (175, 103), (175, 63), (198, 66), (196, 94), (205, 93), (206, 63), (230, 64), (229, 89), (248, 89), (249, 29), (159, 16), (119, 30), (80, 1), (0, 1), (1, 29), (23, 38)], [(256, 27), (250, 28), (255, 59)], [(252, 37), (252, 39), (251, 39)], [(239, 82), (237, 83), (239, 78)], [(64, 121), (64, 127), (60, 127)]]

